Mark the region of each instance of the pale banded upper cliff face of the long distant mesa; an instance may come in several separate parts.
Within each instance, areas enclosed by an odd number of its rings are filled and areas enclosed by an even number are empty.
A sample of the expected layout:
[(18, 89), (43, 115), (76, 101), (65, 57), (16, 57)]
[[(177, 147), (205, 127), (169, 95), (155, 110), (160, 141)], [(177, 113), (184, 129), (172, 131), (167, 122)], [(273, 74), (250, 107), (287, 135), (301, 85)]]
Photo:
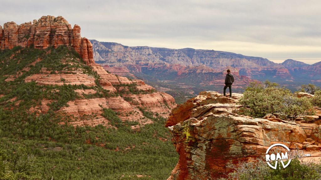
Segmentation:
[[(118, 43), (106, 43), (91, 40), (95, 51), (95, 61), (112, 66), (135, 66), (137, 71), (143, 67), (155, 68), (160, 65), (180, 65), (181, 67), (198, 67), (204, 65), (215, 72), (225, 71), (227, 66), (237, 67), (241, 75), (247, 77), (265, 76), (271, 73), (278, 77), (291, 77), (283, 65), (264, 58), (244, 56), (241, 54), (214, 50), (195, 50), (154, 48), (148, 46), (128, 47)], [(133, 69), (134, 70), (134, 69)], [(275, 72), (278, 70), (278, 72)], [(273, 72), (274, 71), (274, 72)], [(177, 71), (178, 76), (182, 74)]]

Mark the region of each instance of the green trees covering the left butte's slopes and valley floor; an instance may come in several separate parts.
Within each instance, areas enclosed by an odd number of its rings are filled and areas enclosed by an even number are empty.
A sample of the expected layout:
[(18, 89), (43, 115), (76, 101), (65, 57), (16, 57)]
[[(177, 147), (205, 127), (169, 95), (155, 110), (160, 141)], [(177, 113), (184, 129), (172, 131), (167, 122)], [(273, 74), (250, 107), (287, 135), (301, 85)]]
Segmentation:
[[(42, 61), (29, 65), (38, 58)], [(102, 109), (101, 115), (117, 128), (58, 124), (62, 119), (68, 120), (56, 111), (67, 106), (68, 101), (79, 98), (74, 92), (76, 89), (97, 91), (96, 94), (83, 94), (85, 98), (118, 95), (104, 90), (97, 73), (77, 58), (79, 55), (67, 46), (46, 50), (15, 47), (0, 51), (0, 166), (3, 167), (0, 179), (128, 179), (136, 175), (143, 175), (142, 179), (168, 178), (178, 162), (178, 153), (161, 116), (145, 110), (146, 118), (154, 123), (141, 127), (140, 131), (130, 128), (137, 123), (122, 122), (111, 109)], [(62, 63), (62, 59), (67, 63)], [(30, 69), (23, 71), (27, 66)], [(42, 68), (51, 74), (82, 70), (96, 79), (96, 86), (24, 82), (25, 77), (40, 73)], [(17, 73), (19, 71), (22, 73)], [(5, 81), (9, 75), (15, 79)], [(140, 93), (134, 85), (129, 90)], [(49, 111), (39, 115), (30, 112), (29, 109), (39, 105), (41, 99), (51, 100)], [(160, 137), (168, 141), (161, 141)], [(22, 172), (12, 167), (18, 153), (22, 154), (22, 165), (27, 161), (26, 157), (32, 158), (29, 170)], [(35, 167), (37, 171), (33, 170)]]

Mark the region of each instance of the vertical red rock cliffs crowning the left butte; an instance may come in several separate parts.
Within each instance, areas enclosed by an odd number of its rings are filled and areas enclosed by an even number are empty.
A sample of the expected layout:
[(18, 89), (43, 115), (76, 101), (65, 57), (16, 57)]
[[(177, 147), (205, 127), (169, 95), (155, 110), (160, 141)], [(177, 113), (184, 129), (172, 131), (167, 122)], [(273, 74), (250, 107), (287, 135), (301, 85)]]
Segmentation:
[(90, 41), (80, 36), (80, 27), (71, 25), (63, 17), (42, 16), (39, 20), (17, 25), (7, 22), (0, 27), (0, 49), (12, 49), (14, 46), (30, 46), (45, 49), (48, 46), (71, 45), (84, 61), (94, 63)]

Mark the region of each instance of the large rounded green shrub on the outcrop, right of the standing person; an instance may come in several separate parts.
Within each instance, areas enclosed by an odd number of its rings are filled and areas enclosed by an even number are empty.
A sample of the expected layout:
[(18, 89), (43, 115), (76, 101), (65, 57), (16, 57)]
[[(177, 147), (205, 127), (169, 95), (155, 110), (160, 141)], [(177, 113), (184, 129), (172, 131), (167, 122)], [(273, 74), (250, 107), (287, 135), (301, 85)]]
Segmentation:
[[(293, 96), (289, 89), (265, 81), (265, 84), (251, 83), (239, 103), (244, 115), (261, 118), (266, 114), (282, 113), (286, 117), (307, 114), (312, 104), (306, 97)], [(283, 117), (285, 118), (285, 117)]]

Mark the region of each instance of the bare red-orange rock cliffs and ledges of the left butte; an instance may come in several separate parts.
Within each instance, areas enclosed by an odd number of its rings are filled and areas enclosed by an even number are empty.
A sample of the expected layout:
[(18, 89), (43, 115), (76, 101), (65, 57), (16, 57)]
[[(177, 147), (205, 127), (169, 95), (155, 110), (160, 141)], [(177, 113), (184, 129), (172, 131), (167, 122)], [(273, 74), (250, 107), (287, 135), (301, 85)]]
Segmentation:
[[(111, 108), (116, 111), (121, 120), (139, 121), (141, 125), (152, 123), (150, 119), (143, 116), (140, 107), (146, 107), (147, 111), (159, 113), (163, 117), (168, 117), (170, 110), (176, 107), (175, 100), (172, 96), (162, 92), (155, 92), (152, 86), (146, 85), (142, 80), (132, 80), (126, 77), (116, 76), (108, 73), (99, 64), (93, 60), (93, 50), (91, 42), (80, 35), (80, 27), (71, 25), (61, 16), (43, 16), (39, 20), (32, 23), (23, 23), (17, 25), (14, 22), (4, 24), (4, 29), (0, 26), (0, 49), (12, 49), (14, 46), (29, 47), (33, 45), (35, 48), (45, 49), (48, 46), (58, 47), (60, 45), (71, 46), (78, 52), (81, 58), (96, 71), (99, 75), (99, 84), (103, 89), (109, 90), (112, 97), (97, 98), (86, 97), (86, 95), (95, 94), (94, 89), (77, 89), (75, 92), (79, 97), (74, 101), (67, 102), (68, 106), (58, 110), (73, 119), (68, 122), (74, 126), (95, 126), (103, 124), (108, 126), (108, 119), (100, 114), (102, 108)], [(19, 77), (22, 71), (30, 70), (30, 65), (42, 61), (37, 59), (31, 64), (16, 72), (16, 75), (10, 75), (5, 81), (12, 81), (15, 77)], [(62, 59), (61, 62), (66, 62)], [(79, 59), (78, 59), (79, 62)], [(39, 85), (85, 85), (96, 86), (95, 78), (92, 75), (85, 74), (81, 69), (63, 70), (51, 73), (46, 68), (42, 68), (39, 74), (32, 74), (24, 79), (25, 82), (34, 81)], [(116, 86), (135, 84), (140, 93), (127, 93), (126, 97), (117, 94)], [(126, 88), (122, 86), (121, 88)], [(120, 89), (121, 90), (121, 89)], [(0, 94), (1, 97), (1, 94)], [(125, 100), (125, 98), (127, 98)], [(13, 100), (14, 101), (14, 100)], [(46, 113), (49, 110), (48, 104), (50, 100), (42, 99), (39, 106), (30, 108), (30, 112)], [(18, 103), (18, 102), (16, 102)], [(19, 104), (19, 103), (18, 103)], [(64, 123), (64, 122), (62, 122)], [(137, 125), (138, 126), (138, 125)], [(137, 128), (137, 127), (135, 127)]]

